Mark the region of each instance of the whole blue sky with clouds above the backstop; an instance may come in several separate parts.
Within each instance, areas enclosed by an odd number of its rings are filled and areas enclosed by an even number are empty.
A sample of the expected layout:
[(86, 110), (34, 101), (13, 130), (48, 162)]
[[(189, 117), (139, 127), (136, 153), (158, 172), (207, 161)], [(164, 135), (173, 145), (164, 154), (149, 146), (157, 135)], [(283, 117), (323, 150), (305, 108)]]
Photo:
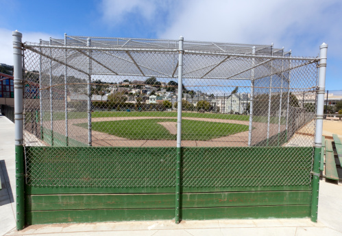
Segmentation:
[(328, 43), (326, 88), (342, 90), (340, 0), (0, 0), (0, 62), (12, 64), (12, 30), (38, 42), (64, 33), (271, 44), (317, 56)]

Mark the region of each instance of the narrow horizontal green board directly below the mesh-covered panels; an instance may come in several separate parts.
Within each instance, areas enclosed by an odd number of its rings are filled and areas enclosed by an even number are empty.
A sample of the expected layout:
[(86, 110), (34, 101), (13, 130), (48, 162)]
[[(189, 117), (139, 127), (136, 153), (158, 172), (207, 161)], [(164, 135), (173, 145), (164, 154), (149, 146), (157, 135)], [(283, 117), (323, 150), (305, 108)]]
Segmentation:
[[(181, 187), (183, 193), (221, 191), (306, 191), (311, 185), (285, 185), (268, 187)], [(175, 193), (173, 188), (115, 188), (115, 187), (32, 187), (25, 185), (28, 195), (40, 194), (91, 194), (91, 193)]]

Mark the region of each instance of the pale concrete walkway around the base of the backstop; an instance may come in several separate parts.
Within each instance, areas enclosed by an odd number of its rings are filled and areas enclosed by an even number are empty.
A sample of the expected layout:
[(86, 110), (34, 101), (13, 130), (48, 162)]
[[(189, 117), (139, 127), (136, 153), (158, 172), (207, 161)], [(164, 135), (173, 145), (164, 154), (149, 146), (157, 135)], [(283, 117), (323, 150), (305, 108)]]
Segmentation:
[[(342, 185), (320, 182), (318, 223), (309, 219), (46, 224), (16, 231), (14, 124), (0, 115), (0, 235), (341, 235)], [(7, 173), (7, 174), (6, 174)], [(8, 176), (8, 177), (6, 177)]]

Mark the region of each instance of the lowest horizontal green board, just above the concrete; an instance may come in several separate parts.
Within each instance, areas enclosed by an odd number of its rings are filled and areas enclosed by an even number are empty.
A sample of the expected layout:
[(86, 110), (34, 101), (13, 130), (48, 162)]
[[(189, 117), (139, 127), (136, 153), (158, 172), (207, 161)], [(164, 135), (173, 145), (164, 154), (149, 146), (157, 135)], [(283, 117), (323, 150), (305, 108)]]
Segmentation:
[[(182, 220), (260, 219), (308, 217), (310, 205), (267, 207), (215, 207), (182, 209)], [(130, 220), (172, 220), (175, 209), (103, 209), (26, 211), (26, 224), (115, 222)]]

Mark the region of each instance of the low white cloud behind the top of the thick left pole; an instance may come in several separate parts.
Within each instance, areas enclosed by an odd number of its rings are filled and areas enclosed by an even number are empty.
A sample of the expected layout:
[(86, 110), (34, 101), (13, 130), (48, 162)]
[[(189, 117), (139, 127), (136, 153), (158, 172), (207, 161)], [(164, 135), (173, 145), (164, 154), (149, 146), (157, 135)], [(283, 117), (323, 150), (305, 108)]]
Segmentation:
[[(39, 42), (39, 39), (49, 40), (48, 35), (42, 32), (21, 32), (23, 34), (23, 43)], [(13, 44), (12, 30), (0, 28), (0, 62), (13, 65)], [(56, 38), (56, 37), (53, 37)], [(60, 37), (59, 37), (60, 38)]]

